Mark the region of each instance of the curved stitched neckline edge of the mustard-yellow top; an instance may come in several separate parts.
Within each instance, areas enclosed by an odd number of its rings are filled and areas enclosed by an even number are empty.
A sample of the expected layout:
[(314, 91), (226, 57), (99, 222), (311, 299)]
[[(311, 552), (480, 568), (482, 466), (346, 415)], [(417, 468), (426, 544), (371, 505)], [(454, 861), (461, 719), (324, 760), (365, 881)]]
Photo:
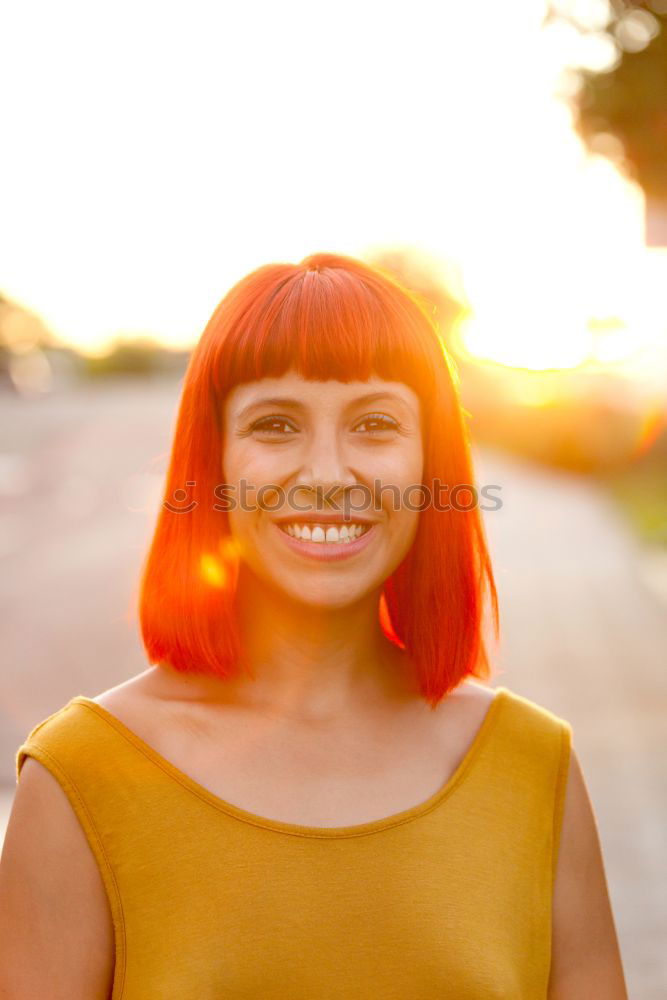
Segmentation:
[(504, 703), (510, 694), (509, 690), (502, 686), (493, 690), (494, 696), (491, 699), (489, 707), (486, 710), (484, 718), (477, 729), (468, 750), (458, 767), (437, 791), (435, 791), (423, 802), (410, 806), (407, 809), (403, 809), (400, 812), (392, 813), (390, 816), (370, 820), (366, 823), (355, 823), (348, 826), (308, 826), (298, 823), (287, 823), (283, 820), (270, 819), (266, 816), (260, 816), (257, 813), (250, 812), (247, 809), (242, 809), (240, 806), (236, 806), (233, 803), (228, 802), (226, 799), (222, 799), (220, 796), (215, 795), (214, 792), (209, 791), (209, 789), (204, 785), (201, 785), (198, 781), (195, 781), (194, 778), (191, 778), (184, 771), (181, 771), (180, 768), (176, 767), (175, 764), (172, 764), (170, 760), (163, 757), (162, 754), (158, 753), (158, 751), (154, 749), (154, 747), (146, 743), (146, 741), (138, 736), (137, 733), (126, 726), (124, 722), (121, 722), (117, 716), (115, 716), (108, 709), (104, 708), (103, 705), (93, 701), (92, 698), (88, 698), (86, 695), (77, 695), (70, 700), (69, 704), (83, 705), (85, 708), (90, 709), (105, 722), (111, 725), (118, 733), (124, 736), (125, 739), (132, 743), (133, 746), (143, 753), (145, 757), (148, 757), (149, 760), (160, 767), (179, 784), (183, 785), (188, 791), (196, 795), (198, 798), (203, 799), (205, 802), (208, 802), (209, 805), (214, 806), (221, 812), (232, 816), (234, 819), (238, 819), (244, 823), (249, 823), (252, 826), (272, 830), (275, 833), (291, 834), (293, 836), (308, 838), (336, 839), (367, 836), (369, 834), (379, 833), (382, 830), (391, 829), (395, 826), (400, 826), (403, 823), (409, 823), (412, 820), (431, 812), (432, 809), (435, 809), (436, 806), (440, 805), (441, 802), (447, 799), (472, 767), (472, 764), (474, 763), (480, 750), (489, 738), (501, 704)]

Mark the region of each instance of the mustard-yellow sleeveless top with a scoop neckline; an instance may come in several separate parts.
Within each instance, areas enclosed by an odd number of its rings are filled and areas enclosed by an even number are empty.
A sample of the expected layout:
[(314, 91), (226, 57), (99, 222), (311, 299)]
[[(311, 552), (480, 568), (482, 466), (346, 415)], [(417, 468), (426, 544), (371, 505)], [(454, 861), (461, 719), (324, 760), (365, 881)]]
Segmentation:
[(30, 732), (95, 856), (111, 1000), (546, 998), (572, 729), (504, 687), (429, 799), (341, 827), (218, 798), (78, 695)]

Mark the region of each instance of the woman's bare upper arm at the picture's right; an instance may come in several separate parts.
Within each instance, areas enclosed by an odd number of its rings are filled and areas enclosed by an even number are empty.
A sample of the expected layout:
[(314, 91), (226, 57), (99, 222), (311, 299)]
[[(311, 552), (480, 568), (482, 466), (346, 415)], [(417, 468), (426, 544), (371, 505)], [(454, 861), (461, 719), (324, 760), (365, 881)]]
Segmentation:
[(553, 898), (548, 1000), (627, 1000), (593, 808), (572, 750)]

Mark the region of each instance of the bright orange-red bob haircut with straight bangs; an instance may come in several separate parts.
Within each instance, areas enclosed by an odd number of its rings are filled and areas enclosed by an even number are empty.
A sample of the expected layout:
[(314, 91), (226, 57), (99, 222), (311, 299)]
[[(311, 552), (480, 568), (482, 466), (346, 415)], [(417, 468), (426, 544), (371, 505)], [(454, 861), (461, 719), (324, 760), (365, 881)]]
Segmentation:
[[(423, 485), (472, 486), (458, 375), (431, 311), (389, 273), (325, 253), (260, 267), (228, 292), (190, 357), (143, 567), (139, 616), (150, 663), (220, 678), (244, 668), (234, 602), (240, 556), (226, 511), (215, 509), (216, 487), (224, 485), (224, 401), (235, 386), (289, 370), (318, 381), (377, 375), (402, 382), (422, 401)], [(177, 507), (173, 498), (193, 493), (186, 485), (199, 499)], [(385, 636), (414, 663), (432, 707), (467, 675), (490, 676), (482, 638), (487, 588), (497, 636), (476, 503), (469, 510), (420, 506), (415, 539), (383, 585), (378, 615)]]

